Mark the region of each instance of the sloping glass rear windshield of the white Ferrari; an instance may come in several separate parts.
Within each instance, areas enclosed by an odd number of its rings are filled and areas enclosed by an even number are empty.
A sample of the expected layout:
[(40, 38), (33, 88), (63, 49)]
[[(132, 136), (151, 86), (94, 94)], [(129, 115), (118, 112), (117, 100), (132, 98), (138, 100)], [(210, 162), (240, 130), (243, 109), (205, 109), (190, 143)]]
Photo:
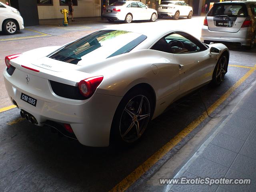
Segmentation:
[(134, 32), (101, 30), (60, 48), (48, 57), (72, 64), (78, 64), (81, 60), (100, 61), (130, 52), (146, 38)]

